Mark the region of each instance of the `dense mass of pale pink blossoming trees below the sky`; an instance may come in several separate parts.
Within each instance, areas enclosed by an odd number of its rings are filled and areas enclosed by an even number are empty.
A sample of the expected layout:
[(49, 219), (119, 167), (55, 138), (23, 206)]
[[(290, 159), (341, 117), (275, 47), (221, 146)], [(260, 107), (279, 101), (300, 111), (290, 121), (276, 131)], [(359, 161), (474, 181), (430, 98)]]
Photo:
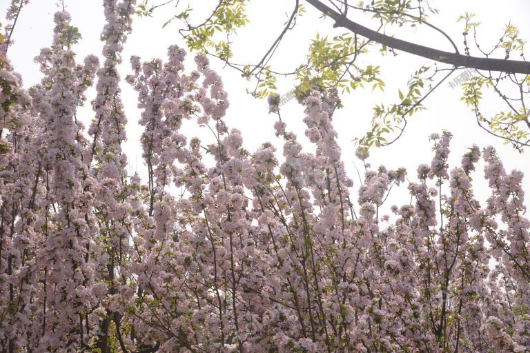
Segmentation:
[[(530, 350), (523, 176), (491, 147), (473, 145), (451, 169), (451, 134), (433, 134), (433, 160), (408, 182), (413, 202), (390, 208), (406, 171), (371, 170), (358, 150), (355, 203), (335, 90), (302, 102), (314, 153), (269, 97), (280, 162), (271, 143), (248, 151), (226, 124), (208, 59), (186, 71), (171, 46), (165, 62), (130, 59), (146, 177), (128, 174), (117, 65), (134, 3), (104, 1), (101, 67), (75, 61), (67, 12), (28, 92), (0, 58), (0, 352)], [(92, 85), (85, 129), (77, 110)], [(212, 139), (186, 136), (184, 121)]]

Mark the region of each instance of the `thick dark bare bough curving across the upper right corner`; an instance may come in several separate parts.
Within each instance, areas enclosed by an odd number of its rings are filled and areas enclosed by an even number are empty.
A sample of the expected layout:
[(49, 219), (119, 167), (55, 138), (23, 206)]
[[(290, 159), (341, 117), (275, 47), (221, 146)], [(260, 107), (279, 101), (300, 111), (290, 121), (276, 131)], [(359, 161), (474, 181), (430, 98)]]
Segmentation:
[(469, 57), (467, 55), (444, 52), (442, 50), (420, 46), (419, 44), (389, 37), (386, 34), (382, 34), (380, 32), (376, 32), (375, 30), (371, 30), (370, 28), (361, 26), (359, 23), (355, 23), (350, 19), (347, 19), (344, 17), (344, 15), (336, 12), (329, 6), (326, 6), (326, 4), (322, 3), (322, 1), (307, 0), (307, 2), (313, 5), (323, 14), (326, 14), (328, 17), (331, 17), (333, 20), (335, 20), (334, 27), (346, 28), (362, 37), (366, 37), (372, 41), (376, 41), (377, 43), (383, 44), (384, 46), (393, 48), (395, 50), (402, 50), (403, 52), (408, 52), (420, 57), (439, 61), (440, 63), (452, 64), (455, 65), (455, 67), (462, 66), (464, 68), (475, 68), (477, 70), (530, 74), (530, 63), (527, 61)]

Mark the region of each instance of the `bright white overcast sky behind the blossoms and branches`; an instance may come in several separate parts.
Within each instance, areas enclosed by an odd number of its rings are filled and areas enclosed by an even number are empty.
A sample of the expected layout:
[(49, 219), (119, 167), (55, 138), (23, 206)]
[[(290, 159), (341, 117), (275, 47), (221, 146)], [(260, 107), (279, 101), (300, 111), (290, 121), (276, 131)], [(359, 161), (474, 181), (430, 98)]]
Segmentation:
[[(2, 16), (0, 21), (2, 23), (5, 23), (3, 14), (5, 14), (9, 2), (8, 0), (0, 0)], [(64, 2), (67, 10), (72, 14), (72, 24), (79, 27), (83, 36), (77, 48), (77, 59), (81, 61), (87, 54), (100, 54), (102, 44), (99, 41), (99, 34), (104, 25), (101, 0), (65, 0)], [(160, 2), (162, 0), (150, 1), (150, 3)], [(204, 11), (213, 9), (212, 6), (215, 3), (213, 0), (189, 2), (192, 3), (192, 8), (197, 8), (197, 4), (200, 4)], [(184, 8), (188, 1), (181, 0), (180, 3), (180, 7)], [(282, 30), (287, 13), (292, 11), (293, 3), (294, 1), (291, 0), (254, 0), (248, 9), (251, 23), (240, 31), (239, 37), (235, 39), (233, 44), (236, 53), (235, 61), (254, 63), (259, 61), (260, 55), (266, 51), (275, 36)], [(493, 0), (431, 0), (431, 5), (440, 10), (440, 14), (431, 17), (431, 22), (445, 30), (457, 43), (461, 52), (463, 52), (461, 35), (463, 23), (456, 23), (456, 19), (464, 12), (475, 12), (477, 21), (482, 22), (479, 28), (481, 48), (487, 48), (488, 45), (498, 41), (504, 23), (508, 21), (512, 21), (518, 26), (523, 39), (530, 39), (529, 0), (506, 0), (502, 2)], [(308, 3), (304, 3), (304, 6), (308, 13), (298, 21), (295, 30), (288, 32), (282, 46), (277, 50), (273, 65), (278, 70), (292, 69), (302, 63), (307, 53), (308, 43), (317, 32), (324, 35), (346, 32), (344, 29), (333, 30), (331, 21), (319, 19), (320, 13), (315, 12)], [(13, 35), (14, 44), (8, 52), (8, 57), (15, 70), (22, 74), (26, 87), (30, 87), (41, 79), (39, 68), (33, 62), (33, 58), (39, 54), (41, 48), (50, 45), (53, 27), (52, 15), (57, 10), (55, 0), (31, 0), (21, 12)], [(130, 72), (128, 58), (132, 54), (137, 54), (146, 60), (153, 57), (165, 59), (166, 50), (171, 44), (186, 48), (177, 32), (178, 23), (175, 22), (164, 29), (161, 28), (162, 23), (173, 13), (175, 13), (173, 6), (166, 6), (155, 12), (153, 18), (140, 19), (135, 17), (133, 33), (126, 43), (124, 63), (120, 68), (122, 77)], [(351, 16), (358, 16), (358, 14), (352, 12)], [(355, 19), (357, 20), (357, 17)], [(359, 21), (373, 29), (377, 26), (375, 22), (363, 18)], [(400, 39), (411, 40), (441, 50), (451, 50), (449, 43), (440, 34), (426, 27), (415, 30), (387, 28), (387, 33)], [(528, 53), (527, 51), (527, 57), (530, 57)], [(474, 54), (478, 55), (477, 52)], [(190, 55), (189, 59), (192, 57), (193, 55)], [(221, 63), (213, 58), (210, 59), (210, 62), (222, 75), (229, 94), (230, 108), (226, 121), (230, 127), (242, 130), (246, 148), (253, 151), (265, 141), (271, 141), (279, 147), (281, 141), (273, 134), (275, 118), (268, 115), (266, 101), (253, 99), (245, 93), (246, 88), (253, 88), (253, 83), (244, 81), (235, 70), (223, 68)], [(367, 88), (343, 95), (344, 109), (337, 111), (335, 115), (335, 128), (339, 132), (343, 160), (350, 170), (350, 177), (354, 180), (357, 180), (357, 173), (353, 163), (360, 165), (360, 162), (355, 160), (353, 154), (355, 148), (351, 140), (355, 137), (362, 137), (364, 132), (369, 129), (373, 105), (396, 101), (397, 89), (406, 88), (406, 81), (413, 71), (428, 61), (406, 53), (399, 53), (397, 57), (382, 57), (377, 50), (373, 50), (373, 54), (364, 55), (360, 58), (360, 64), (362, 65), (362, 63), (381, 66), (382, 79), (386, 83), (386, 89), (384, 93), (372, 93), (371, 88)], [(187, 68), (188, 70), (193, 69), (191, 60)], [(458, 73), (453, 74), (452, 78), (457, 75)], [(292, 79), (282, 79), (278, 84), (279, 94), (288, 92), (292, 86)], [(121, 83), (121, 88), (129, 121), (128, 141), (125, 150), (129, 156), (130, 168), (141, 171), (141, 150), (138, 142), (141, 130), (137, 125), (139, 119), (139, 110), (136, 108), (137, 96), (125, 81)], [(525, 172), (527, 179), (524, 181), (524, 188), (528, 194), (530, 192), (530, 151), (519, 154), (513, 148), (502, 145), (500, 139), (495, 139), (481, 130), (475, 123), (473, 112), (459, 101), (461, 95), (460, 88), (452, 89), (447, 83), (442, 83), (437, 92), (425, 101), (428, 109), (409, 119), (407, 130), (400, 140), (389, 147), (371, 151), (370, 162), (372, 165), (384, 164), (389, 168), (404, 166), (409, 170), (409, 179), (415, 180), (415, 167), (419, 163), (430, 163), (431, 161), (431, 144), (427, 137), (433, 132), (441, 133), (442, 129), (446, 129), (454, 135), (453, 147), (451, 148), (452, 166), (457, 165), (461, 155), (467, 152), (467, 147), (473, 143), (477, 143), (480, 147), (493, 145), (498, 149), (507, 170), (518, 168)], [(88, 92), (89, 101), (94, 97), (95, 91), (90, 90)], [(489, 108), (491, 108), (488, 112), (492, 114), (499, 110), (506, 111), (501, 101), (494, 99), (488, 103)], [(90, 106), (81, 110), (79, 116), (88, 125), (92, 119)], [(302, 107), (294, 100), (282, 107), (282, 118), (288, 123), (288, 128), (294, 130), (300, 140), (307, 141), (303, 132), (303, 117)], [(195, 129), (189, 131), (193, 131), (193, 134), (199, 133)], [(281, 152), (281, 148), (279, 152)], [(482, 170), (479, 170), (479, 173), (482, 176)], [(480, 199), (483, 199), (487, 195), (481, 194), (481, 190), (484, 190), (483, 187), (486, 184), (480, 182), (480, 179), (482, 177), (475, 179), (478, 181), (476, 185), (479, 187), (475, 192), (480, 196)], [(358, 185), (358, 183), (356, 184)], [(400, 193), (404, 196), (406, 190), (402, 190)], [(407, 203), (407, 199), (396, 200), (395, 202)], [(526, 204), (529, 204), (528, 201)]]

